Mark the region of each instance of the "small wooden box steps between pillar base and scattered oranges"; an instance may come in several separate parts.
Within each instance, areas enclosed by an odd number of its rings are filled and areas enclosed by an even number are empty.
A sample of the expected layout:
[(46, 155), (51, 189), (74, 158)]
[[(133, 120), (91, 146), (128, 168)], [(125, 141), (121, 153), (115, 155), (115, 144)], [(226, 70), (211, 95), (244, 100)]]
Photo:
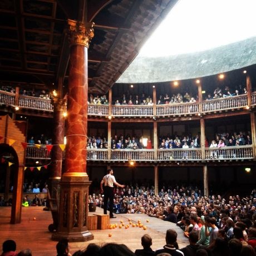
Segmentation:
[(88, 214), (88, 230), (95, 229), (108, 229), (109, 228), (109, 215), (108, 214)]

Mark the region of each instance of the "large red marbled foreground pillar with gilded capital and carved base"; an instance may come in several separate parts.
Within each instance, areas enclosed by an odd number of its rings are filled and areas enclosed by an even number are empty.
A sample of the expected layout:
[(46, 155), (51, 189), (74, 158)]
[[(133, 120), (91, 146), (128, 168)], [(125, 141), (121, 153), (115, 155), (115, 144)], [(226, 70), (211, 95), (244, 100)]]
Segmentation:
[(94, 36), (93, 28), (68, 19), (70, 39), (70, 72), (68, 78), (67, 130), (65, 173), (60, 186), (60, 213), (54, 240), (73, 242), (93, 239), (88, 232), (88, 188), (91, 181), (86, 173), (87, 159), (87, 48)]

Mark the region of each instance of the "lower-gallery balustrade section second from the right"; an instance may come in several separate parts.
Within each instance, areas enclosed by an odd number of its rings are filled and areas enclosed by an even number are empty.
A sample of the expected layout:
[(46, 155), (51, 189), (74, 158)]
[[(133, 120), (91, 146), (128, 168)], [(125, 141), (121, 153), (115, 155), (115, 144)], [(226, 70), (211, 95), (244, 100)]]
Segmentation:
[(201, 160), (201, 149), (157, 149), (157, 161)]

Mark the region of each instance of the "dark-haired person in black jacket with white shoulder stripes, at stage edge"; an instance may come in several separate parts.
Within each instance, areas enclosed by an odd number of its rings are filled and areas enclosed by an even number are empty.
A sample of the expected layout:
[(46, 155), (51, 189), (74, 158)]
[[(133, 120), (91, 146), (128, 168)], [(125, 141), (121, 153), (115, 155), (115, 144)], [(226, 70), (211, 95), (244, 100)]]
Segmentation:
[(177, 244), (177, 233), (173, 229), (168, 229), (165, 236), (166, 245), (163, 249), (158, 249), (155, 251), (155, 255), (160, 253), (169, 253), (175, 256), (184, 256), (184, 253), (175, 248)]

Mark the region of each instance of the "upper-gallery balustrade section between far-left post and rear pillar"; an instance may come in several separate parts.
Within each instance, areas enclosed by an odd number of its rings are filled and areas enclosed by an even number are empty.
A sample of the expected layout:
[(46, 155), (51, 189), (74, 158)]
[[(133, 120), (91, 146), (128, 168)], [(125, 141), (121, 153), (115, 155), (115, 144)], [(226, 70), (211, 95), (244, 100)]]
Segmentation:
[(19, 107), (53, 112), (51, 100), (19, 95)]

